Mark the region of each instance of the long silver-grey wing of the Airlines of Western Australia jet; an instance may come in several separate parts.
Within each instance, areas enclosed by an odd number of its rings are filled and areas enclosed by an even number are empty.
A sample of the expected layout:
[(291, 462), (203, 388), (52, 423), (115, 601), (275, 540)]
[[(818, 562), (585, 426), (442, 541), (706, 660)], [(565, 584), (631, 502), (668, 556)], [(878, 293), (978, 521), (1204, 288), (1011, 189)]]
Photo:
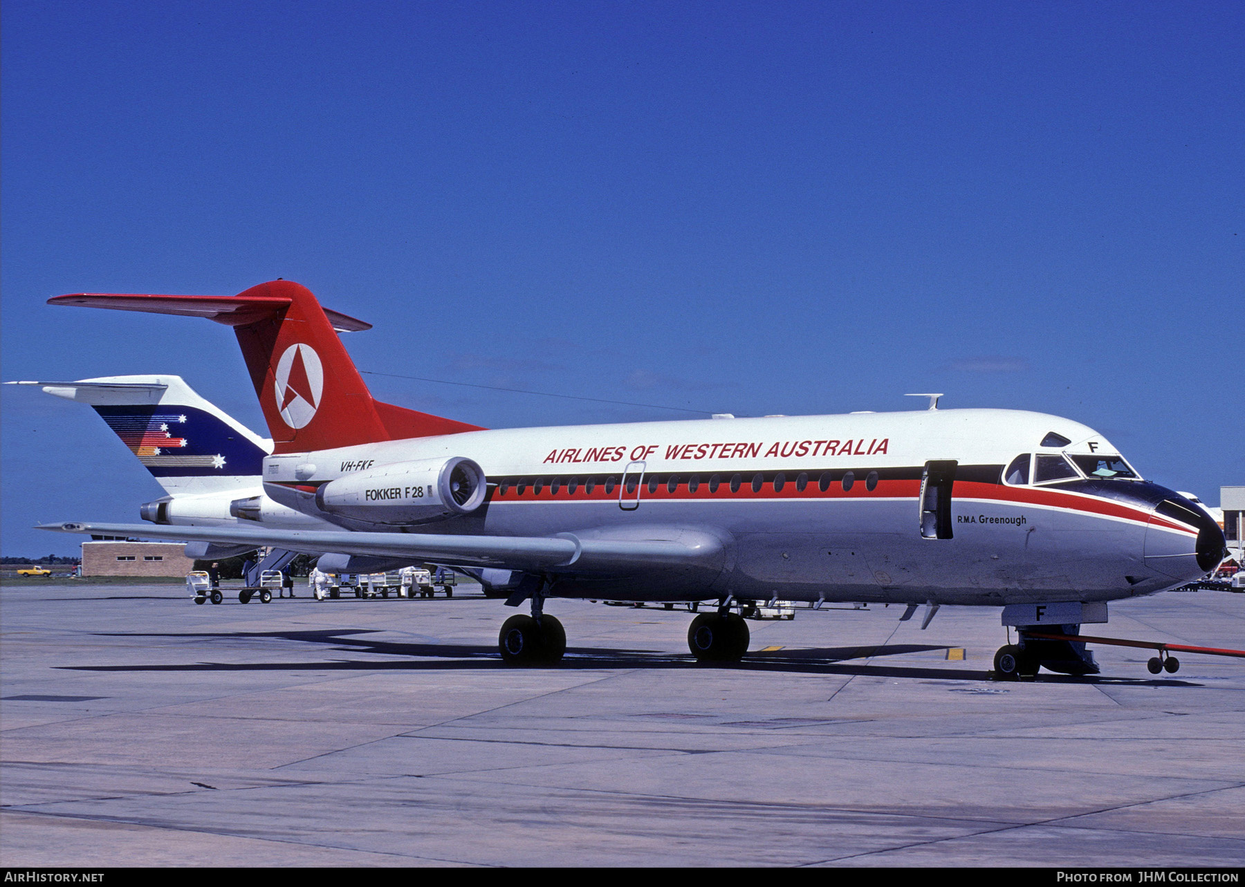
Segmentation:
[(290, 551), (410, 557), (454, 566), (505, 567), (575, 574), (616, 574), (639, 567), (705, 566), (720, 561), (722, 541), (690, 530), (669, 539), (555, 536), (459, 536), (423, 532), (352, 532), (264, 527), (164, 526), (152, 524), (42, 524), (40, 530), (136, 536), (188, 542), (271, 545)]

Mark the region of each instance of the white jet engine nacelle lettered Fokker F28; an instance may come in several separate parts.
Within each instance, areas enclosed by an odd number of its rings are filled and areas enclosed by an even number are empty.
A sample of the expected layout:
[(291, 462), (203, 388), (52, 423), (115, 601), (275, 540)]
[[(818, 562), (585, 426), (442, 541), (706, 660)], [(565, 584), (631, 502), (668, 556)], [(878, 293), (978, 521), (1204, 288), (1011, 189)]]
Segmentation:
[(420, 459), (330, 480), (315, 494), (327, 514), (370, 524), (423, 524), (471, 514), (484, 501), (484, 471), (471, 459)]

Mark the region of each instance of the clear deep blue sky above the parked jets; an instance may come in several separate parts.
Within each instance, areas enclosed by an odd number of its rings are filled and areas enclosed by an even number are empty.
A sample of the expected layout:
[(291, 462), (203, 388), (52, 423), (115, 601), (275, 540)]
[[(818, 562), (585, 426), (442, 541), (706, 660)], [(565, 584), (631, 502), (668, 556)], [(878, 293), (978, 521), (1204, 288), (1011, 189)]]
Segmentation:
[[(232, 332), (52, 309), (278, 276), (365, 371), (732, 412), (1036, 409), (1245, 483), (1239, 2), (57, 2), (2, 20), (5, 379)], [(488, 427), (677, 412), (369, 376)], [(159, 488), (2, 389), (2, 551)]]

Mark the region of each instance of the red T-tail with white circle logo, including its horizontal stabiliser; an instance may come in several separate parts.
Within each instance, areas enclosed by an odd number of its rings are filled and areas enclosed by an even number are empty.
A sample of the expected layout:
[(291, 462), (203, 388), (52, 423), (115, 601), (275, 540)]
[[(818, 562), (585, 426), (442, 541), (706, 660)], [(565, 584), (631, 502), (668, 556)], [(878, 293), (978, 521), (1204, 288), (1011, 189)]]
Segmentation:
[(310, 290), (289, 280), (260, 284), (232, 299), (78, 294), (49, 302), (192, 315), (233, 326), (274, 453), (479, 430), (374, 401), (335, 331), (335, 326), (357, 330), (367, 325), (326, 312)]

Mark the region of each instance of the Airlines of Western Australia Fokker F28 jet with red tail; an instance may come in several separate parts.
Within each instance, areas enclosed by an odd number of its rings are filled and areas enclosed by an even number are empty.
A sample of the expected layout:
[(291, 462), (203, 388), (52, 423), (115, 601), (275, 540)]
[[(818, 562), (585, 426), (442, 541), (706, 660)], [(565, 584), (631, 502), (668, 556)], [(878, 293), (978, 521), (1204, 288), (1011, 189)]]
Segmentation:
[[(698, 659), (747, 651), (742, 602), (1003, 608), (1001, 677), (1096, 673), (1083, 622), (1182, 585), (1224, 552), (1219, 526), (1144, 480), (1103, 435), (1055, 416), (930, 409), (486, 430), (375, 401), (339, 330), (291, 281), (237, 296), (78, 294), (52, 305), (234, 327), (273, 437), (263, 489), (335, 529), (68, 522), (70, 532), (432, 561), (508, 577), (502, 658), (557, 662), (550, 598), (716, 601)], [(929, 616), (926, 616), (929, 618)]]

